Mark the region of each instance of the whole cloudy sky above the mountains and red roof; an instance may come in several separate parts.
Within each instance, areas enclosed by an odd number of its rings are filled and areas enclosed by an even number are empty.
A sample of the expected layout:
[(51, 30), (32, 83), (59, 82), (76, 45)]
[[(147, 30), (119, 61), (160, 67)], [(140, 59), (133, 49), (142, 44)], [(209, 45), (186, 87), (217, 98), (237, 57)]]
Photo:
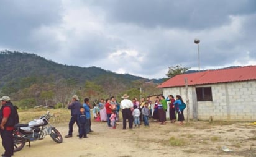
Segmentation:
[(256, 1), (1, 0), (0, 49), (145, 78), (256, 64)]

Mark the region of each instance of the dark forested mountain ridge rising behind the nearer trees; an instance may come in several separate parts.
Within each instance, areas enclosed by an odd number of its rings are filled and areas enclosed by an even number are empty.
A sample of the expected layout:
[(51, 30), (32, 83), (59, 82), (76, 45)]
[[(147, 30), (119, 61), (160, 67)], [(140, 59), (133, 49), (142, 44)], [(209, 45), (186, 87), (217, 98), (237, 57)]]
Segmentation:
[(18, 51), (0, 51), (0, 88), (7, 83), (17, 83), (22, 78), (42, 78), (43, 81), (57, 82), (60, 79), (75, 80), (84, 83), (85, 80), (95, 80), (99, 77), (114, 77), (128, 84), (134, 80), (145, 80), (154, 83), (159, 80), (149, 80), (130, 74), (116, 74), (100, 67), (78, 67), (58, 64), (37, 54), (20, 53)]

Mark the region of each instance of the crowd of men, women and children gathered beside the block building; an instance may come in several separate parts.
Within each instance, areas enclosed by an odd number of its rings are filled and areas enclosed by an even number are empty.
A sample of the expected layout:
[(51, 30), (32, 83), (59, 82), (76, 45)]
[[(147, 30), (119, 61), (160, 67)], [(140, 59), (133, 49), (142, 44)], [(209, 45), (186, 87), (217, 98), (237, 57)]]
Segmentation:
[[(164, 125), (167, 121), (167, 108), (169, 106), (170, 122), (176, 122), (176, 114), (178, 114), (178, 121), (180, 125), (183, 125), (185, 109), (184, 102), (180, 95), (176, 95), (176, 100), (173, 95), (156, 96), (155, 104), (152, 105), (152, 101), (147, 97), (142, 98), (139, 102), (137, 98), (129, 100), (129, 95), (122, 96), (121, 103), (117, 103), (114, 96), (110, 99), (101, 99), (98, 105), (94, 106), (94, 115), (96, 121), (107, 121), (107, 126), (116, 129), (116, 121), (119, 119), (119, 110), (122, 111), (122, 123), (123, 129), (126, 129), (126, 122), (129, 122), (129, 128), (139, 127), (142, 122), (145, 126), (149, 126), (149, 118), (157, 119), (160, 124)], [(168, 105), (168, 106), (167, 106)], [(153, 110), (153, 116), (152, 116)]]

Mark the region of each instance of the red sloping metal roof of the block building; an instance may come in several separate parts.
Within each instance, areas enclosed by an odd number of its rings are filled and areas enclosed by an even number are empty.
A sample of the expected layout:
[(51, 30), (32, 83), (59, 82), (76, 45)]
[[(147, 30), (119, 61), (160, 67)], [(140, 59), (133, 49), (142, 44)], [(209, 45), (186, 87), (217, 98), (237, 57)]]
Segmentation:
[(170, 78), (158, 88), (185, 86), (185, 77), (188, 85), (204, 85), (224, 82), (240, 82), (256, 80), (256, 66), (234, 67), (231, 69), (207, 70), (191, 74), (180, 74)]

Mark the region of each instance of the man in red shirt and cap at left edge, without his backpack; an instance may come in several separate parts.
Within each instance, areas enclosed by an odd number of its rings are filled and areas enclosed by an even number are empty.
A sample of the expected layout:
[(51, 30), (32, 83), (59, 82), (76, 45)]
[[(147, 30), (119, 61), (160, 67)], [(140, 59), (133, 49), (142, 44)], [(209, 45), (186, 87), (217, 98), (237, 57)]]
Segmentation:
[(4, 154), (2, 156), (12, 156), (13, 155), (13, 149), (14, 149), (14, 143), (13, 143), (13, 137), (12, 133), (14, 130), (14, 124), (11, 122), (11, 111), (12, 111), (12, 103), (10, 102), (9, 96), (2, 96), (0, 99), (2, 108), (0, 111), (0, 133), (2, 138), (2, 146), (4, 146)]

